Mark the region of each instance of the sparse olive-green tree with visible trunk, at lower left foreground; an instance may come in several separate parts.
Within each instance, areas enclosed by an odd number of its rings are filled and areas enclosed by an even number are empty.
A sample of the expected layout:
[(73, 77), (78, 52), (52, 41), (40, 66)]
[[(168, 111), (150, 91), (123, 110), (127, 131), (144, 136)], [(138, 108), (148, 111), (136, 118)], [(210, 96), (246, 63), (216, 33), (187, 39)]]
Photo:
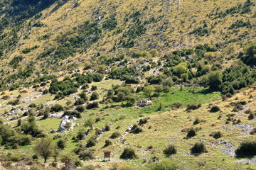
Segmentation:
[(51, 138), (43, 138), (34, 148), (34, 151), (43, 157), (45, 163), (53, 155), (52, 141)]

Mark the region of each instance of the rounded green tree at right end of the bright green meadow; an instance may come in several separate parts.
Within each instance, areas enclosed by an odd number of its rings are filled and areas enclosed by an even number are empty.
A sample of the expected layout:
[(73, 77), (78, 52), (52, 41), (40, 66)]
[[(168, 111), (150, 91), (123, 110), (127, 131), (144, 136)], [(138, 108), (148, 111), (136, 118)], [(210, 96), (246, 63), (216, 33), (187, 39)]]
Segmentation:
[(213, 71), (208, 74), (208, 85), (210, 89), (218, 89), (220, 84), (222, 84), (222, 73), (219, 71)]

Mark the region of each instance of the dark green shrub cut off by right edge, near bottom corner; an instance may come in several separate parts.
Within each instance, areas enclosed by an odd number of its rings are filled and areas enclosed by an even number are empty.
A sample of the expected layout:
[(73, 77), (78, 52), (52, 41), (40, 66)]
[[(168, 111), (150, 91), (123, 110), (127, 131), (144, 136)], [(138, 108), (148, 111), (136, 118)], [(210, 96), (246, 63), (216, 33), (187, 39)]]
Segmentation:
[(238, 149), (235, 150), (235, 154), (244, 156), (255, 156), (256, 155), (256, 141), (245, 141), (240, 144)]

